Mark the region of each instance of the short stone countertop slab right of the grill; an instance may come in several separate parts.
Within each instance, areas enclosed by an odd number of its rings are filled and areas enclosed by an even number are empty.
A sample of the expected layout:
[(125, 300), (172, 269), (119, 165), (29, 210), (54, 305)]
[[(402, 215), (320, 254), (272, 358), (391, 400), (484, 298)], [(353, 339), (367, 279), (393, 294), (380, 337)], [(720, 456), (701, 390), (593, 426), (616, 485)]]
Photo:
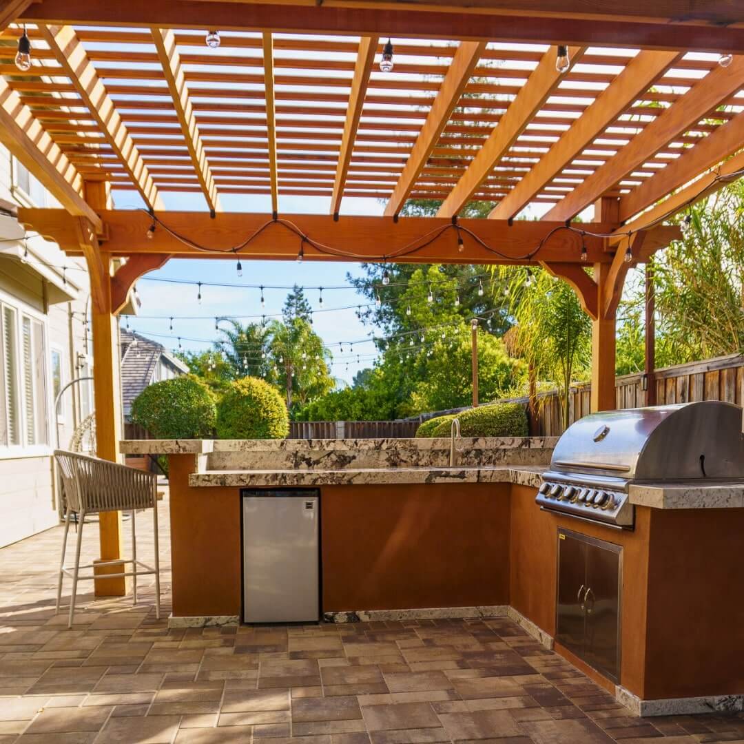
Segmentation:
[(744, 507), (744, 483), (731, 481), (663, 485), (635, 484), (628, 489), (631, 504), (655, 509), (736, 509)]

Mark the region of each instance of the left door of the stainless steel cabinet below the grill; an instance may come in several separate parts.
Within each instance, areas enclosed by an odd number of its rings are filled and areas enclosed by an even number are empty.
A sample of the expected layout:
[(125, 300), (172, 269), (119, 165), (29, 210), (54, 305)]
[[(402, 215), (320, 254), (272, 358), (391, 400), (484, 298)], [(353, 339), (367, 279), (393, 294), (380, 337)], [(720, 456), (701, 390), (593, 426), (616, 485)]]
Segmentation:
[(586, 542), (559, 531), (556, 641), (582, 657), (586, 638), (585, 591)]

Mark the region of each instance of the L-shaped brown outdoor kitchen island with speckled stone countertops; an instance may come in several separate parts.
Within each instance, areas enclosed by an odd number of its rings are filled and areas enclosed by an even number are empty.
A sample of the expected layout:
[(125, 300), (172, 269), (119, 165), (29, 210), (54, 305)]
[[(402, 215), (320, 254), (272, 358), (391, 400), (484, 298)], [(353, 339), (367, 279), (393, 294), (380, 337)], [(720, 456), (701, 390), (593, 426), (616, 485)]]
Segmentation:
[[(243, 618), (243, 488), (316, 488), (324, 619), (509, 615), (636, 713), (741, 710), (744, 483), (631, 486), (635, 527), (615, 529), (536, 504), (555, 443), (461, 439), (455, 466), (449, 440), (138, 440), (121, 451), (168, 455), (173, 626)], [(569, 533), (622, 556), (614, 678), (554, 641)]]

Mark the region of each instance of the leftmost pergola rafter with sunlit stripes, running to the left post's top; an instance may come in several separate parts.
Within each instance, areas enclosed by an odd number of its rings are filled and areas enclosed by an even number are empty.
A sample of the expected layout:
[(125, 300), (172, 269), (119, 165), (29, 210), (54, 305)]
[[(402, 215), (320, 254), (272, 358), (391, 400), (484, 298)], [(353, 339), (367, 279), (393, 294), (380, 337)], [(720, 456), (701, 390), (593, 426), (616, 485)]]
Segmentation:
[(83, 179), (19, 95), (0, 77), (0, 142), (71, 215), (86, 217), (100, 232), (100, 218), (83, 198)]

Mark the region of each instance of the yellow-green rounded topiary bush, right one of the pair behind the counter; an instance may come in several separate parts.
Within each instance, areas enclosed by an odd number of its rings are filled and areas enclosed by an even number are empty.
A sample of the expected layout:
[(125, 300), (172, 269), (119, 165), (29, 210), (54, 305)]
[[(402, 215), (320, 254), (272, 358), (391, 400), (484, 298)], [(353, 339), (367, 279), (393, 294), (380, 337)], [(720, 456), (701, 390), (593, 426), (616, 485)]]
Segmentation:
[(218, 439), (282, 439), (287, 434), (284, 399), (263, 379), (236, 380), (217, 404)]

